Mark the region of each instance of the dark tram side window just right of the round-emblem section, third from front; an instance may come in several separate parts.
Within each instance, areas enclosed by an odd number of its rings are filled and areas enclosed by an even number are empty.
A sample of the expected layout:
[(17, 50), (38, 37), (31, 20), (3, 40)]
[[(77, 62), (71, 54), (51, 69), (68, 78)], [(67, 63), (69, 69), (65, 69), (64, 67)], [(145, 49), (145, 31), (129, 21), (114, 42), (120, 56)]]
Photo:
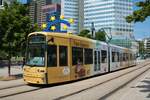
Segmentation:
[(77, 62), (83, 64), (83, 48), (72, 47), (72, 65), (76, 65)]

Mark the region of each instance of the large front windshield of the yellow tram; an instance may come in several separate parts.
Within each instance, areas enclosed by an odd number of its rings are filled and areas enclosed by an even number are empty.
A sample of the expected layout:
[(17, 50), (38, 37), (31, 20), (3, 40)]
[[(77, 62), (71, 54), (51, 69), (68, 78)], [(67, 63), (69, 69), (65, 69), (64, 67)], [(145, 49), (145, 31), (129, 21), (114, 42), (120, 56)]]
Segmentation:
[(45, 66), (45, 44), (44, 43), (28, 43), (26, 65), (29, 66)]

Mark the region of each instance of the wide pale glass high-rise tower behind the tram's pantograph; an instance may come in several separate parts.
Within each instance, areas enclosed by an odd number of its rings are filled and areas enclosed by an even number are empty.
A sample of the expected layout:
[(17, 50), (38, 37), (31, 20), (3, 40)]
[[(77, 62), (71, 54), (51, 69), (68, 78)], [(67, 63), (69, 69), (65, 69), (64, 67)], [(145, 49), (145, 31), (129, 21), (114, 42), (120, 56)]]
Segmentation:
[(132, 0), (84, 0), (84, 28), (111, 29), (112, 36), (131, 37), (133, 24), (125, 17), (132, 14)]

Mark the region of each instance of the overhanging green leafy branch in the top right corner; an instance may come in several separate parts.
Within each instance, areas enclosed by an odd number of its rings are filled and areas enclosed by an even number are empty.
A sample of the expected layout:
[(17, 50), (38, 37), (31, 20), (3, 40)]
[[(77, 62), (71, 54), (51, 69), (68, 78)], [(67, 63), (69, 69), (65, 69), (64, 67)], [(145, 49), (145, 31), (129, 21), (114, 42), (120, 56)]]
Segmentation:
[(138, 10), (134, 11), (132, 15), (126, 17), (127, 22), (143, 22), (150, 16), (150, 0), (140, 1), (136, 3), (139, 7)]

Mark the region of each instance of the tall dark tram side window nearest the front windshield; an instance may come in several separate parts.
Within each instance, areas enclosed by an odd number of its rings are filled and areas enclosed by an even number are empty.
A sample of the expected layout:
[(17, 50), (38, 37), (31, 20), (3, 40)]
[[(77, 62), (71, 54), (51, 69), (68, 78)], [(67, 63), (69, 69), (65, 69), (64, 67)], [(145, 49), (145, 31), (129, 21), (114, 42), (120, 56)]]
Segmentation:
[(56, 67), (57, 66), (57, 46), (50, 45), (47, 50), (47, 61), (48, 67)]

